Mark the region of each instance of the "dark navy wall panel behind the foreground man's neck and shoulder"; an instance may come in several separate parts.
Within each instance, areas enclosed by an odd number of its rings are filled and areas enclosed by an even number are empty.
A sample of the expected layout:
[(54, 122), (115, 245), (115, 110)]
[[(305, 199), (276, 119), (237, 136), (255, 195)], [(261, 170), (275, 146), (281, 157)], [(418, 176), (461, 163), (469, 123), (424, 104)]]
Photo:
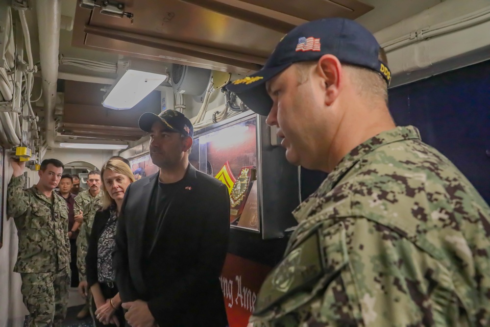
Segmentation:
[(490, 203), (490, 61), (390, 90), (397, 125), (414, 125)]

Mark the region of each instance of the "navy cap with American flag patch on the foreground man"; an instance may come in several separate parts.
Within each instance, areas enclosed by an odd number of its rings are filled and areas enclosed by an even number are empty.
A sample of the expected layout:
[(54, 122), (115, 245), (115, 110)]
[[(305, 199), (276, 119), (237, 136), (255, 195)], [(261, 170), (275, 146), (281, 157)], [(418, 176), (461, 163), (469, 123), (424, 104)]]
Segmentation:
[(277, 44), (264, 67), (226, 86), (252, 111), (267, 116), (272, 100), (266, 82), (292, 64), (318, 60), (324, 54), (340, 62), (378, 72), (388, 84), (391, 72), (379, 57), (380, 45), (362, 25), (344, 18), (325, 18), (295, 27)]

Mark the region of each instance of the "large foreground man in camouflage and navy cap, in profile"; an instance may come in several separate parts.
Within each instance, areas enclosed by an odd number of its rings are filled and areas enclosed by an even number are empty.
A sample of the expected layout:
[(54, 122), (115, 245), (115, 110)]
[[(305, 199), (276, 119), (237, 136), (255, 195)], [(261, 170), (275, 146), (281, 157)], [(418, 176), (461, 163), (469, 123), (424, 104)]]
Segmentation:
[(345, 19), (300, 25), (229, 84), (286, 158), (329, 173), (295, 211), (255, 327), (490, 326), (490, 208), (414, 126), (396, 127), (384, 51)]

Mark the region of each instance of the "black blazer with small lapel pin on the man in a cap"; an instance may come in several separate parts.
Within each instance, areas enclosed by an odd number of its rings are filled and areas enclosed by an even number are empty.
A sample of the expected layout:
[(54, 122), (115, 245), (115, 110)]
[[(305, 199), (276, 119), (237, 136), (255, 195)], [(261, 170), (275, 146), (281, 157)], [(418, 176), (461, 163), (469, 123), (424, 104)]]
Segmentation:
[(123, 302), (141, 299), (160, 327), (227, 326), (221, 269), (227, 252), (230, 199), (226, 186), (189, 164), (185, 183), (150, 253), (143, 234), (158, 173), (132, 183), (124, 197), (113, 265)]

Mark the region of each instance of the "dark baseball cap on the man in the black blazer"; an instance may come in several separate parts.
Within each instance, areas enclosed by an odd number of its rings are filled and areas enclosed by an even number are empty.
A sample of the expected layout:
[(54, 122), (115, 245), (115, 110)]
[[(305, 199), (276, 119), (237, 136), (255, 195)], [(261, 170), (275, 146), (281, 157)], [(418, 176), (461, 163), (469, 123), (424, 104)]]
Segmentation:
[(151, 126), (153, 126), (153, 123), (156, 121), (162, 122), (173, 132), (178, 132), (190, 137), (194, 136), (194, 127), (192, 126), (191, 121), (187, 119), (183, 113), (177, 110), (167, 109), (158, 115), (152, 112), (145, 112), (141, 115), (138, 125), (141, 130), (149, 133), (151, 131)]

